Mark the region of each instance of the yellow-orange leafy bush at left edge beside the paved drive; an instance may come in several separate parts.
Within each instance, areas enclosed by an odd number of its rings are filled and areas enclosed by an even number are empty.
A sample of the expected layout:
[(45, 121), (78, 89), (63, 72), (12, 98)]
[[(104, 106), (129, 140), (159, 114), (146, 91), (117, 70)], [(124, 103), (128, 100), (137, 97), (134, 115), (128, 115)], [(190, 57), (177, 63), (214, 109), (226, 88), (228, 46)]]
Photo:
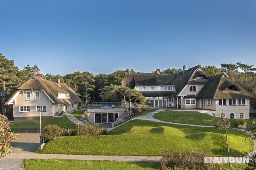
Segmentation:
[(0, 159), (11, 152), (12, 140), (17, 139), (18, 134), (14, 135), (11, 132), (9, 123), (6, 122), (6, 117), (0, 115)]

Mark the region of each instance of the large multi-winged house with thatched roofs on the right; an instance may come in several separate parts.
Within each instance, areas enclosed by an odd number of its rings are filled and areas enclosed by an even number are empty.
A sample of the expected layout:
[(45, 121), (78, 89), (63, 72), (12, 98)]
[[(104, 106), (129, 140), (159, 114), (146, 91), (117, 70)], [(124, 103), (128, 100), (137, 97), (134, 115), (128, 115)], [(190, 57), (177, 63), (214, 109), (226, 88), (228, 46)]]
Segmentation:
[[(215, 115), (228, 113), (230, 119), (249, 119), (252, 94), (227, 74), (209, 76), (198, 65), (175, 74), (125, 73), (122, 85), (137, 89), (151, 108), (207, 109)], [(204, 110), (203, 110), (204, 111)]]

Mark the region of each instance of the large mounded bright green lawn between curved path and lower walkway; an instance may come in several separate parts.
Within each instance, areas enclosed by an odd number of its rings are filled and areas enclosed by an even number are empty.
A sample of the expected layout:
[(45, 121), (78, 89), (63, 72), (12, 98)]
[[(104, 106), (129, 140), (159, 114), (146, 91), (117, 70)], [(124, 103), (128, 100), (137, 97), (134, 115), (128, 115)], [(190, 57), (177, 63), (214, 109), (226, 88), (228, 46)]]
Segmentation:
[[(102, 136), (63, 136), (49, 141), (41, 153), (79, 155), (160, 156), (164, 150), (207, 151), (226, 156), (224, 130), (132, 120)], [(245, 156), (253, 140), (240, 130), (228, 130), (231, 156)]]

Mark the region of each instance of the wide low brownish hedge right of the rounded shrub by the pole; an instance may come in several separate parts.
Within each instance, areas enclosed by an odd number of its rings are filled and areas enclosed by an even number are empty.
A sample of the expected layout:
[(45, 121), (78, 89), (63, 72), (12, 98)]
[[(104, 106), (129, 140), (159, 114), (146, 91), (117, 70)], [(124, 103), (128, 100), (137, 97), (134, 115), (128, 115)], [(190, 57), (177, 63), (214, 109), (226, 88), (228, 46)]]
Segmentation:
[(76, 127), (78, 136), (98, 136), (106, 134), (106, 128), (97, 125), (77, 125)]

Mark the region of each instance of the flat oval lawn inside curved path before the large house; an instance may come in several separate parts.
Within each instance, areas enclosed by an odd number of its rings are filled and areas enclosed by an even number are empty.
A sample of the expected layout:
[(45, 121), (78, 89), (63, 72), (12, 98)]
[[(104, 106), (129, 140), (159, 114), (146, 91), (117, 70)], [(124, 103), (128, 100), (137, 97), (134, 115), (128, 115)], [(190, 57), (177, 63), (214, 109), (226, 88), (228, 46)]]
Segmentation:
[[(174, 122), (174, 123), (184, 123), (184, 124), (194, 124), (194, 125), (210, 125), (213, 126), (217, 122), (218, 117), (210, 116), (206, 113), (199, 113), (196, 111), (162, 111), (154, 114), (155, 119), (162, 120), (165, 122)], [(252, 121), (251, 119), (244, 119), (247, 122), (247, 125)], [(237, 128), (236, 121), (237, 119), (230, 119), (231, 127)]]

